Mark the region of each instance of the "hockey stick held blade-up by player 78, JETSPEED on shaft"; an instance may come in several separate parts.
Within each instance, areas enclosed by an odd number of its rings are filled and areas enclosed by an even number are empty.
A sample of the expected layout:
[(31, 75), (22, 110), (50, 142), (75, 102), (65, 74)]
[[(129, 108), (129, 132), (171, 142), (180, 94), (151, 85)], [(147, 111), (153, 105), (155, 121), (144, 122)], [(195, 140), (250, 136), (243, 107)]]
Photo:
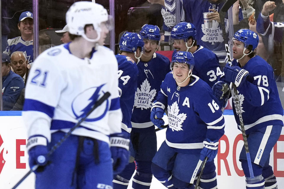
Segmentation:
[[(223, 38), (224, 38), (224, 42), (225, 42), (225, 47), (226, 47), (226, 52), (227, 52), (227, 58), (228, 58), (228, 61), (229, 61), (229, 64), (231, 62), (231, 66), (232, 66), (232, 61), (231, 61), (231, 58), (230, 58), (230, 46), (228, 44), (228, 37), (227, 37), (227, 33), (226, 33), (226, 29), (225, 29), (225, 15), (226, 15), (226, 12), (229, 10), (229, 8), (236, 2), (236, 0), (227, 0), (224, 5), (222, 6), (220, 12), (219, 12), (219, 15), (220, 15), (220, 24), (221, 24), (221, 28), (222, 28), (222, 34), (223, 34)], [(231, 84), (230, 84), (231, 86)], [(251, 165), (251, 156), (249, 154), (249, 150), (248, 150), (248, 141), (247, 141), (247, 138), (246, 138), (246, 131), (245, 131), (245, 127), (244, 127), (244, 123), (243, 123), (243, 117), (242, 117), (242, 112), (241, 112), (241, 109), (240, 109), (240, 101), (239, 101), (239, 96), (238, 96), (238, 91), (237, 91), (237, 87), (235, 84), (232, 84), (232, 87), (233, 87), (233, 93), (234, 93), (234, 97), (235, 97), (235, 110), (236, 112), (238, 112), (238, 116), (239, 116), (239, 119), (240, 119), (240, 125), (241, 125), (241, 131), (242, 131), (242, 134), (243, 134), (243, 141), (244, 141), (244, 146), (245, 146), (245, 149), (246, 149), (246, 157), (247, 157), (247, 161), (248, 161), (248, 169), (249, 169), (249, 172), (250, 172), (250, 177), (251, 178), (254, 178), (254, 175), (253, 175), (253, 169), (252, 169), (252, 165)], [(227, 96), (227, 98), (230, 96), (230, 92)], [(227, 100), (226, 98), (226, 100)], [(226, 104), (226, 102), (225, 102)], [(223, 107), (222, 107), (223, 108)]]

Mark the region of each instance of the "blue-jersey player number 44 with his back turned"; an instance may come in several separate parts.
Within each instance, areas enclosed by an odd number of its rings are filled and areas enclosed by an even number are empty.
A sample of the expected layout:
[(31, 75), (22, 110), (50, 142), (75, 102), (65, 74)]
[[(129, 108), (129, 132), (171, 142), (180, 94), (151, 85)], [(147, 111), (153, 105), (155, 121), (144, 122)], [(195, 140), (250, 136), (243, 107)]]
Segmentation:
[[(134, 106), (135, 93), (137, 91), (138, 68), (136, 63), (142, 56), (143, 49), (144, 42), (139, 34), (125, 32), (119, 43), (119, 54), (115, 56), (118, 62), (118, 90), (120, 91), (120, 105), (122, 111), (121, 129), (128, 138), (130, 138), (132, 128), (131, 114)], [(131, 143), (129, 149), (131, 155), (129, 164), (121, 174), (114, 176), (113, 188), (121, 188), (121, 178), (127, 177), (129, 169), (132, 170), (133, 167), (135, 169), (135, 155)], [(132, 175), (130, 175), (130, 178), (131, 176)], [(130, 180), (130, 178), (128, 178), (128, 180)], [(125, 187), (127, 188), (127, 185)]]

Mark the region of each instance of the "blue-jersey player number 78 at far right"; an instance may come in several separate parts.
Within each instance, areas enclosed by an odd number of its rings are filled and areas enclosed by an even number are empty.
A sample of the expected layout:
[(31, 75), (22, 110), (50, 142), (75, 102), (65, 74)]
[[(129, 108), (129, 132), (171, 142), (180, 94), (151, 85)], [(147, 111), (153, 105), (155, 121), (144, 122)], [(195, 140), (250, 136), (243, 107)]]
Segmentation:
[[(269, 165), (270, 152), (277, 142), (283, 127), (283, 109), (279, 99), (272, 67), (254, 49), (259, 43), (258, 35), (248, 29), (238, 30), (233, 42), (232, 67), (224, 67), (224, 77), (213, 86), (214, 95), (219, 99), (227, 96), (224, 85), (234, 83), (238, 90), (243, 124), (248, 136), (254, 178), (250, 178), (245, 148), (240, 161), (246, 176), (247, 189), (277, 189), (277, 182)], [(227, 84), (225, 84), (227, 83)], [(238, 128), (240, 119), (233, 111)]]

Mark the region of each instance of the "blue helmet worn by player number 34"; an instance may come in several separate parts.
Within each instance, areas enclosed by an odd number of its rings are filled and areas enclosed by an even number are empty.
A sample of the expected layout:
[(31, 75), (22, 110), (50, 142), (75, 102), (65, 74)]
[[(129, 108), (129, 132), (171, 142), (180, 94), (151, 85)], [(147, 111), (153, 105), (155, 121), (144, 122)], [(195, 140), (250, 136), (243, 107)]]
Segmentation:
[(189, 37), (192, 37), (193, 40), (196, 38), (196, 28), (192, 23), (180, 22), (171, 29), (170, 38), (172, 39), (184, 39), (187, 41)]

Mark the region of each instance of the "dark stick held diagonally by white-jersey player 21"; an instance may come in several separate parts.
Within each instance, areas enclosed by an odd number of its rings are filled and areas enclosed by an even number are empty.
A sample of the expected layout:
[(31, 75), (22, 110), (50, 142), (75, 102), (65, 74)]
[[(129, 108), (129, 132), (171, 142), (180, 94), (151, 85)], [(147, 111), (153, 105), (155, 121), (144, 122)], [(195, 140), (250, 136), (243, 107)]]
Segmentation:
[[(92, 109), (90, 109), (90, 111), (84, 116), (82, 117), (69, 131), (68, 133), (66, 133), (54, 146), (52, 146), (51, 150), (47, 153), (47, 157), (50, 156), (51, 154), (53, 154), (53, 152), (59, 147), (61, 146), (61, 144), (71, 135), (71, 133), (81, 125), (82, 122), (85, 121), (85, 119), (87, 119), (87, 117), (94, 111), (94, 109), (96, 109), (98, 106), (100, 106), (108, 97), (110, 97), (110, 93), (106, 92), (92, 107)], [(19, 180), (19, 182), (17, 182), (17, 184), (12, 188), (15, 189), (17, 188), (33, 171), (35, 171), (37, 168), (39, 167), (39, 165), (35, 165), (31, 168), (31, 170), (29, 172), (27, 172), (25, 174), (25, 176), (23, 176), (23, 178), (21, 178)]]

